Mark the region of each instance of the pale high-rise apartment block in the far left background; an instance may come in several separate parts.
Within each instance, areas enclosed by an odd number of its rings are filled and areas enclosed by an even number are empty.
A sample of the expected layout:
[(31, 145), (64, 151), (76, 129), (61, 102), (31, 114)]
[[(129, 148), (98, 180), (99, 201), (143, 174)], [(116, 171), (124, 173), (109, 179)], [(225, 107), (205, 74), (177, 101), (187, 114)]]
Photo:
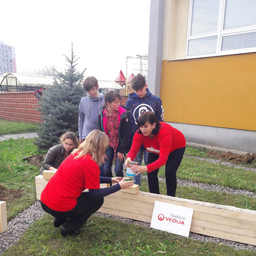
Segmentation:
[(15, 48), (0, 41), (0, 75), (7, 72), (17, 72)]

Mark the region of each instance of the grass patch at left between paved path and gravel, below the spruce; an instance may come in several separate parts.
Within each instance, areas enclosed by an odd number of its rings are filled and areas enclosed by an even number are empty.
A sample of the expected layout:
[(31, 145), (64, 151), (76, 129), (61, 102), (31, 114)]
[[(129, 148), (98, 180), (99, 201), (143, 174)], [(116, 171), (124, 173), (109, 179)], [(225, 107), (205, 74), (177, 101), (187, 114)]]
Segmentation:
[(33, 139), (9, 139), (0, 142), (0, 184), (5, 188), (21, 189), (21, 198), (7, 201), (7, 219), (10, 220), (36, 200), (35, 176), (39, 169), (22, 159), (39, 154)]

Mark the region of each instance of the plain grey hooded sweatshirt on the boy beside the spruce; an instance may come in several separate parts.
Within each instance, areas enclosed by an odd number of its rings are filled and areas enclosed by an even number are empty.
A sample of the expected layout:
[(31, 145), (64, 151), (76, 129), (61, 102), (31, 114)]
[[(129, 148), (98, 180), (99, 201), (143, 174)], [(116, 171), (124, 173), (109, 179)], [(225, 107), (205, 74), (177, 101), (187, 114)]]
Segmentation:
[(102, 93), (99, 93), (98, 97), (87, 95), (81, 98), (78, 119), (79, 139), (85, 139), (91, 131), (98, 129), (98, 112), (102, 110), (104, 102)]

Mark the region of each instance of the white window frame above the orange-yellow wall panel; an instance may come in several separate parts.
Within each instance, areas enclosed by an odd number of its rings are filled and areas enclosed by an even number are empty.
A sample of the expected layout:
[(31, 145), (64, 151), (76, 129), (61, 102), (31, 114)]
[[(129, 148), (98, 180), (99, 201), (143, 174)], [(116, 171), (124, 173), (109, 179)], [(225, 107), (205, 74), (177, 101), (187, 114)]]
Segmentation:
[[(207, 1), (209, 1), (209, 0), (207, 0)], [(230, 55), (230, 54), (254, 53), (254, 52), (256, 52), (256, 47), (251, 47), (251, 48), (246, 48), (246, 49), (221, 51), (221, 46), (222, 46), (221, 42), (222, 42), (222, 39), (223, 39), (224, 36), (239, 35), (239, 34), (242, 34), (242, 33), (245, 33), (245, 32), (247, 32), (247, 33), (256, 32), (256, 25), (223, 30), (226, 0), (220, 0), (217, 32), (203, 33), (203, 34), (198, 34), (198, 35), (190, 35), (191, 34), (191, 28), (192, 28), (193, 2), (194, 2), (194, 0), (190, 0), (189, 14), (188, 14), (188, 33), (187, 33), (187, 38), (186, 38), (186, 58), (203, 58), (203, 57), (211, 57), (211, 56), (223, 56), (223, 55)], [(215, 37), (217, 36), (216, 53), (188, 56), (188, 42), (190, 40), (200, 39), (200, 38), (205, 38), (205, 37), (211, 37), (211, 36), (215, 36)]]

